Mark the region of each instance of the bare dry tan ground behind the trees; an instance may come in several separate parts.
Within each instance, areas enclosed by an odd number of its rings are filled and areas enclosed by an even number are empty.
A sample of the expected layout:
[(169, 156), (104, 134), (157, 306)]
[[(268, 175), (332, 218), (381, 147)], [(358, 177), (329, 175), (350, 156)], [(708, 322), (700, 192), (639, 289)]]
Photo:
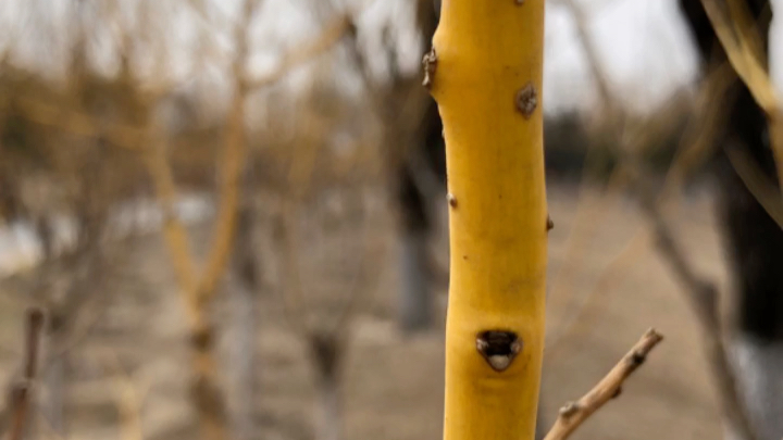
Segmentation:
[[(667, 339), (630, 380), (619, 400), (607, 405), (577, 439), (718, 439), (721, 424), (714, 392), (699, 345), (699, 329), (658, 255), (634, 204), (622, 197), (579, 197), (574, 187), (550, 185), (556, 227), (550, 234), (548, 347), (544, 407), (547, 423), (563, 402), (586, 391), (655, 326)], [(580, 204), (581, 203), (581, 204)], [(579, 208), (577, 208), (579, 206)], [(318, 215), (306, 216), (321, 218)], [(332, 224), (312, 231), (303, 222), (299, 257), (308, 319), (335, 315), (358, 261), (373, 276), (363, 282), (361, 313), (351, 326), (345, 370), (346, 439), (421, 440), (440, 438), (443, 416), (443, 325), (431, 334), (402, 338), (395, 329), (398, 287), (393, 222), (376, 209), (372, 239), (362, 248), (356, 225)], [(697, 267), (725, 287), (724, 263), (709, 194), (692, 194), (672, 216), (676, 232)], [(575, 225), (580, 225), (574, 231)], [(591, 229), (594, 230), (585, 230)], [(201, 228), (196, 243), (206, 242)], [(569, 240), (570, 236), (575, 238)], [(436, 247), (444, 256), (444, 236)], [(631, 243), (631, 244), (630, 244)], [(147, 439), (196, 438), (185, 394), (188, 376), (184, 319), (166, 254), (158, 237), (130, 249), (144, 294), (108, 292), (108, 307), (94, 331), (72, 355), (76, 378), (70, 389), (73, 439), (115, 439), (116, 401), (123, 384), (134, 386)], [(268, 250), (266, 288), (259, 294), (258, 335), (260, 439), (312, 438), (313, 372), (306, 347), (284, 317), (281, 265)], [(443, 259), (445, 261), (445, 257)], [(18, 301), (2, 302), (2, 375), (18, 357)], [(440, 292), (445, 297), (445, 291)], [(216, 315), (227, 318), (225, 304)], [(442, 322), (442, 319), (440, 319)], [(116, 360), (129, 376), (117, 380)], [(124, 381), (123, 381), (124, 380)], [(44, 390), (46, 391), (46, 390)], [(46, 393), (42, 393), (42, 398)], [(127, 402), (127, 400), (125, 400)]]

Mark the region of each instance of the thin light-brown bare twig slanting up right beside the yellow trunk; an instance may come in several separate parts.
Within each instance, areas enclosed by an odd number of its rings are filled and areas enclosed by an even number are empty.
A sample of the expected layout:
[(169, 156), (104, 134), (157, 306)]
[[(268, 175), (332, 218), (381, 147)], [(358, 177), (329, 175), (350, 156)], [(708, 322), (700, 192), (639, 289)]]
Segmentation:
[(576, 402), (570, 402), (560, 408), (555, 425), (544, 440), (564, 440), (579, 428), (593, 413), (618, 397), (622, 385), (647, 359), (649, 352), (663, 337), (649, 329), (622, 360), (587, 394)]

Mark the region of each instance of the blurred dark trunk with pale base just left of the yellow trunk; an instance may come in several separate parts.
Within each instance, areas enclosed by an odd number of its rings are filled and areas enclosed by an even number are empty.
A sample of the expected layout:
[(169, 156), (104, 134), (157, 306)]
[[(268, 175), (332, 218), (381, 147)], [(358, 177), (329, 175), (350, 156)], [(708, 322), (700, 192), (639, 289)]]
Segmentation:
[[(437, 26), (437, 11), (432, 1), (418, 2), (417, 26), (426, 48)], [(389, 64), (396, 65), (396, 53), (389, 49)], [(407, 332), (431, 328), (435, 317), (432, 292), (432, 265), (428, 240), (435, 228), (431, 197), (440, 193), (445, 176), (443, 140), (437, 105), (425, 89), (421, 77), (393, 75), (387, 98), (381, 105), (396, 103), (396, 111), (382, 110), (386, 129), (386, 148), (396, 185), (400, 218), (399, 322)], [(407, 99), (400, 100), (400, 96)], [(376, 104), (377, 106), (378, 104)], [(408, 117), (399, 114), (406, 113)], [(435, 168), (437, 173), (433, 173)]]

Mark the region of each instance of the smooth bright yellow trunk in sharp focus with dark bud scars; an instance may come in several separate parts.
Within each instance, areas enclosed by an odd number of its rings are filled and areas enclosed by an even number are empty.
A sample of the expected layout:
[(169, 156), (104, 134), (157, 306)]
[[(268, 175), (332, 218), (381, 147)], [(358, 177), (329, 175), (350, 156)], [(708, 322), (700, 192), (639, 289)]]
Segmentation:
[(544, 348), (544, 0), (443, 0), (424, 59), (444, 122), (446, 440), (532, 440)]

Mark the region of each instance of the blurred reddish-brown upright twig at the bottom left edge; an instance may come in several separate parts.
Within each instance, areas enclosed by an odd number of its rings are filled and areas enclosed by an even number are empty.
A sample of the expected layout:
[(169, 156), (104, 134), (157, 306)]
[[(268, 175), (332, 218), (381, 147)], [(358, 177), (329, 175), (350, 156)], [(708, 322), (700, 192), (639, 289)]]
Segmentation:
[(9, 440), (21, 440), (24, 436), (30, 413), (30, 394), (38, 370), (38, 349), (44, 329), (44, 312), (32, 309), (27, 312), (25, 334), (25, 359), (22, 381), (11, 389), (12, 416), (9, 429)]

